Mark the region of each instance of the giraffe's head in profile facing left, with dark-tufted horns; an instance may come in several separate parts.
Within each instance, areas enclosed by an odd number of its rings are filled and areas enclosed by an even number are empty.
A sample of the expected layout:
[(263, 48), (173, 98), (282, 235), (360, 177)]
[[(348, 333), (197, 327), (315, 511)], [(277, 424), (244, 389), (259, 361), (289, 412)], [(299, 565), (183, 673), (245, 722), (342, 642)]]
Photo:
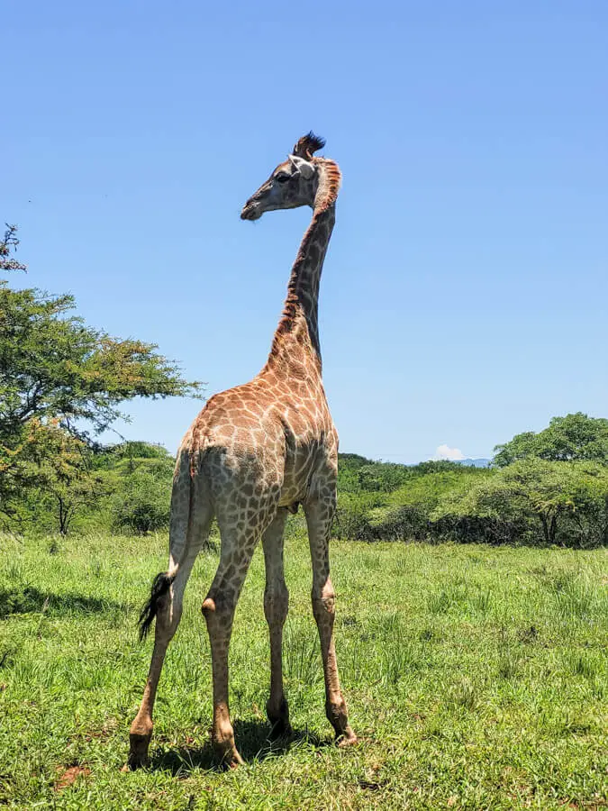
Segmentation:
[(268, 180), (243, 205), (240, 219), (259, 220), (264, 212), (280, 208), (297, 208), (300, 205), (314, 207), (323, 165), (331, 163), (331, 166), (335, 166), (332, 161), (313, 157), (314, 152), (324, 145), (325, 141), (313, 132), (304, 135), (286, 161), (277, 166)]

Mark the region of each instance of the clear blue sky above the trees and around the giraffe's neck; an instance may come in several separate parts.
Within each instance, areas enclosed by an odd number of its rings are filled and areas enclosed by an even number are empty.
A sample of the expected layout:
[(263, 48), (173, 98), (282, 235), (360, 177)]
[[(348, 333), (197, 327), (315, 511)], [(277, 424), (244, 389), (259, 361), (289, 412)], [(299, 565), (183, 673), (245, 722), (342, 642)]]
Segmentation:
[[(608, 5), (218, 6), (4, 5), (14, 283), (208, 395), (245, 382), (310, 211), (240, 206), (312, 128), (344, 178), (320, 303), (340, 450), (488, 456), (608, 416)], [(123, 433), (175, 450), (198, 408), (136, 403)]]

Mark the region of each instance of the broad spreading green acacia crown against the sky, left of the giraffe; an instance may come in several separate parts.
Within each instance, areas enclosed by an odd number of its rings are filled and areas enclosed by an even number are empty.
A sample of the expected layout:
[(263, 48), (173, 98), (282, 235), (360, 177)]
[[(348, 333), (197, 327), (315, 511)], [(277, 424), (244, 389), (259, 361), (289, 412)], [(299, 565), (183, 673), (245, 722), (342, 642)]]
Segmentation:
[(132, 397), (198, 391), (155, 344), (112, 338), (70, 314), (74, 306), (72, 296), (0, 281), (0, 442), (18, 438), (32, 417), (57, 417), (90, 440), (90, 429), (101, 433), (124, 416), (119, 406)]

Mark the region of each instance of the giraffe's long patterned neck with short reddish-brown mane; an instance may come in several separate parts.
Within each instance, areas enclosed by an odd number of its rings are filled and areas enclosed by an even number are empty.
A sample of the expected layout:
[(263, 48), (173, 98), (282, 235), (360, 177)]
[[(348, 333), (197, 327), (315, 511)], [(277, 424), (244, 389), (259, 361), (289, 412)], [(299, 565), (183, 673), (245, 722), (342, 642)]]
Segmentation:
[[(327, 161), (329, 164), (330, 161)], [(335, 168), (335, 169), (334, 169)], [(287, 285), (283, 315), (278, 323), (268, 357), (269, 368), (288, 371), (294, 363), (313, 361), (319, 375), (322, 371), (321, 343), (319, 342), (319, 284), (325, 253), (336, 219), (336, 197), (340, 172), (331, 163), (331, 169), (322, 166), (319, 186), (314, 201), (313, 219), (304, 233)], [(295, 347), (299, 351), (295, 351)]]

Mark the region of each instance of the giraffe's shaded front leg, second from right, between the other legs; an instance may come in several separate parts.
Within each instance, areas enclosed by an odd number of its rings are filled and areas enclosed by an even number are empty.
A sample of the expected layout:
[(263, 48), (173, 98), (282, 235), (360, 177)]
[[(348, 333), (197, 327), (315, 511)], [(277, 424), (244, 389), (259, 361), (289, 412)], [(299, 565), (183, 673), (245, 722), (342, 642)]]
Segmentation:
[(285, 582), (283, 565), (283, 533), (287, 511), (277, 511), (272, 524), (262, 537), (266, 566), (264, 590), (264, 614), (270, 636), (270, 697), (266, 705), (271, 737), (291, 734), (289, 707), (283, 690), (283, 626), (289, 606), (289, 592)]

